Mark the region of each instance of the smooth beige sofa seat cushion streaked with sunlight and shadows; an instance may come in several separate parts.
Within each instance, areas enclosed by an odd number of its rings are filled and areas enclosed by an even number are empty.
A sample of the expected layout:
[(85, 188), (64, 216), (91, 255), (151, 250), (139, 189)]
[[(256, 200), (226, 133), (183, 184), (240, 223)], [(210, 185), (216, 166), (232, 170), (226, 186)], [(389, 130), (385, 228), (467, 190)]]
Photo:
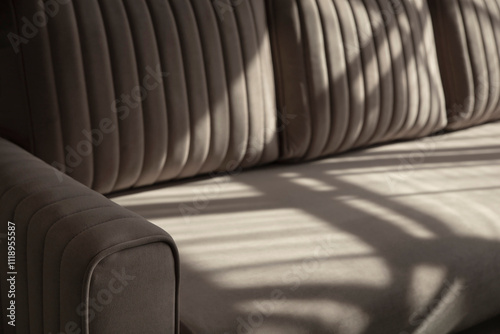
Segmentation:
[(444, 334), (500, 314), (500, 123), (113, 200), (167, 230), (197, 334)]

